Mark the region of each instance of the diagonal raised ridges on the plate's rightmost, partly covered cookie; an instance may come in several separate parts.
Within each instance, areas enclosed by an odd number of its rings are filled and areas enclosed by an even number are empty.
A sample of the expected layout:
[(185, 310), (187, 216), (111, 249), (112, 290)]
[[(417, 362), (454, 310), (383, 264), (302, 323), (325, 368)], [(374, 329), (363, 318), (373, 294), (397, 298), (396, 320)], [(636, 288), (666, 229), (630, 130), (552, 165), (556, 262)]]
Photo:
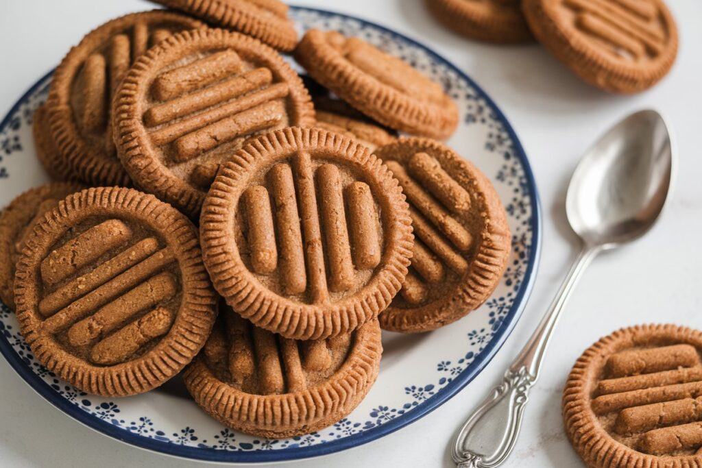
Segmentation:
[(470, 210), (470, 194), (425, 152), (411, 156), (406, 167), (385, 161), (410, 204), (415, 242), (412, 263), (400, 293), (411, 305), (428, 300), (432, 284), (444, 279), (444, 265), (456, 274), (468, 270), (463, 255), (472, 236), (457, 217)]

